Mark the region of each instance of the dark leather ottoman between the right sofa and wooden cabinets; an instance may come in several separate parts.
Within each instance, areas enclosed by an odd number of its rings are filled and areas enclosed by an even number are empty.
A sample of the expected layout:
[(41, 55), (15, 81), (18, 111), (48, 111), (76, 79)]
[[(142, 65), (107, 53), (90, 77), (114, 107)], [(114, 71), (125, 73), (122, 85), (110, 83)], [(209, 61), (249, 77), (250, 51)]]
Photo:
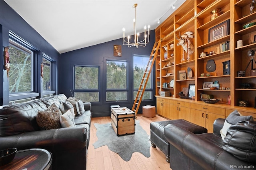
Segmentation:
[(194, 123), (188, 122), (184, 119), (170, 120), (170, 121), (160, 121), (150, 123), (150, 140), (152, 147), (158, 147), (166, 157), (166, 161), (170, 162), (169, 155), (169, 142), (164, 136), (164, 128), (169, 125), (174, 124), (178, 127), (184, 128), (194, 134), (207, 133), (207, 129), (196, 125)]

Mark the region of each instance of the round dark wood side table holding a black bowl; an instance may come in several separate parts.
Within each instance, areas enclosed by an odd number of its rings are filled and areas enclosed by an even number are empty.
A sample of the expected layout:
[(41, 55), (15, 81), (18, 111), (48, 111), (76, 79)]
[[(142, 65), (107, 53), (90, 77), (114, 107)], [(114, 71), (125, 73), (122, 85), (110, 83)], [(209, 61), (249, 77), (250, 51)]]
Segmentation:
[(45, 149), (18, 150), (9, 164), (0, 167), (1, 170), (51, 170), (52, 154)]

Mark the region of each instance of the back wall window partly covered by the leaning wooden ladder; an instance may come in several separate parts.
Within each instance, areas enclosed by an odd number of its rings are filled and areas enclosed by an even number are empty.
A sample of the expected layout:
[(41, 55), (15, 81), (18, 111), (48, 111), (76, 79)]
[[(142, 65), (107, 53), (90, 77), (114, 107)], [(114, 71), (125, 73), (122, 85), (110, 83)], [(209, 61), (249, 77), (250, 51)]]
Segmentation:
[[(146, 66), (148, 64), (149, 56), (134, 55), (133, 56), (133, 99), (135, 100), (138, 88), (145, 72)], [(148, 68), (149, 69), (149, 68)], [(152, 74), (151, 74), (152, 75)], [(144, 91), (142, 100), (152, 99), (152, 87), (151, 87), (151, 75), (146, 84), (146, 89)], [(146, 81), (146, 79), (144, 80)]]

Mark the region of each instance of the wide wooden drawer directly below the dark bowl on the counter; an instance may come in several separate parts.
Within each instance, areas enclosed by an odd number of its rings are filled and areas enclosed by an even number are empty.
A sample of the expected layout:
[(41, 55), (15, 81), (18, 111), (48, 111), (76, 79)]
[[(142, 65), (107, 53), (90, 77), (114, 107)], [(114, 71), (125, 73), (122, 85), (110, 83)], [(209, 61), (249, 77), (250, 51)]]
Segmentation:
[(226, 113), (226, 110), (224, 108), (208, 106), (208, 105), (200, 105), (200, 104), (196, 104), (196, 103), (191, 103), (190, 108), (200, 110), (200, 111), (215, 113), (215, 114), (218, 114), (218, 115), (224, 115), (224, 116), (225, 116), (225, 113)]

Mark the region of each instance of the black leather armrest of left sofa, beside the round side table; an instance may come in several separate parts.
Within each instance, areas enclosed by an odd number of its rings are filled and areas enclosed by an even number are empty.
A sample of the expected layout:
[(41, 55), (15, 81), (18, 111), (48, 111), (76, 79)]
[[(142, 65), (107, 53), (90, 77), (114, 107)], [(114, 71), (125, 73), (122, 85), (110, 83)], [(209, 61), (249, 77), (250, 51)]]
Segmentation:
[(59, 128), (24, 132), (11, 136), (1, 136), (0, 147), (16, 147), (18, 150), (43, 148), (52, 154), (86, 147), (87, 130), (84, 127)]

